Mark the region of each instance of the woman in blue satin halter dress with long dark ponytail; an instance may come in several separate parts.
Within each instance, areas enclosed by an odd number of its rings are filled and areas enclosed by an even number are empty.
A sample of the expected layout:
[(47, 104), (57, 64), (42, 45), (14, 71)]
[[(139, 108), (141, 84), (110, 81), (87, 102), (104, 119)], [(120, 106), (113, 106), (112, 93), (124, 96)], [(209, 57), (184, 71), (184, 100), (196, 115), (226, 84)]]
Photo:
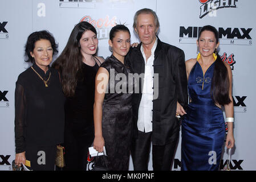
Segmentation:
[(232, 73), (217, 54), (219, 44), (216, 28), (202, 27), (197, 40), (200, 53), (196, 59), (186, 61), (190, 103), (181, 126), (181, 170), (184, 171), (219, 169), (225, 140), (222, 106), (228, 125), (225, 145), (234, 146)]

